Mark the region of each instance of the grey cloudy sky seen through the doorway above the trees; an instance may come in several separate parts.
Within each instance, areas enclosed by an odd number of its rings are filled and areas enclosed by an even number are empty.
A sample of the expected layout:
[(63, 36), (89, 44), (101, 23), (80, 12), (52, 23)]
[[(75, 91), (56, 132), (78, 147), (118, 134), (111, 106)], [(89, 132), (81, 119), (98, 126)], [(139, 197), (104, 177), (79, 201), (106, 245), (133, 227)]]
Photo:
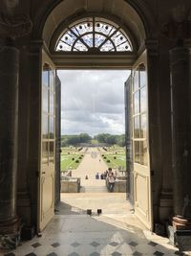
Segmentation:
[(124, 70), (60, 70), (61, 133), (124, 133)]

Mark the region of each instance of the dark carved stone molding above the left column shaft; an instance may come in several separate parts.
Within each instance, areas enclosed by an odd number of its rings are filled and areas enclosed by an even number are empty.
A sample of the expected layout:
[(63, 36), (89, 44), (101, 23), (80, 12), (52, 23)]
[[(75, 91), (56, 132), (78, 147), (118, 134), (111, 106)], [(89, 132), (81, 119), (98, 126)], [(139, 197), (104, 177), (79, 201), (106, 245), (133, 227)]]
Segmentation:
[(11, 16), (0, 13), (0, 37), (21, 37), (31, 31), (32, 21), (27, 15)]

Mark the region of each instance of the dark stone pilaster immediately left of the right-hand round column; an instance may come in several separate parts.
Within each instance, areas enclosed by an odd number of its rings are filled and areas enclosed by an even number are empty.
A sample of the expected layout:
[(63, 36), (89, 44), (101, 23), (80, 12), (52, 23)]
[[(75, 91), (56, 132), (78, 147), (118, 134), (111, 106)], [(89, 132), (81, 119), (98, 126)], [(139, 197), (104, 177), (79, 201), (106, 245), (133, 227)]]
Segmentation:
[(169, 44), (165, 36), (159, 36), (160, 222), (167, 221), (173, 211)]

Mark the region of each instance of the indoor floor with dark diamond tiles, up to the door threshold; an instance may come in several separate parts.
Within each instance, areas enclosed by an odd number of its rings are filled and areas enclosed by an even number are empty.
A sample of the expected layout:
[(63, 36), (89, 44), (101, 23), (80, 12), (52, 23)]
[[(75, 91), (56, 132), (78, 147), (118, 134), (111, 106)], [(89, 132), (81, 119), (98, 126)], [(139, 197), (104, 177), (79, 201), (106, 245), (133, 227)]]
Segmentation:
[[(41, 238), (23, 243), (5, 256), (177, 255), (168, 240), (126, 224), (114, 215), (55, 216)], [(131, 217), (133, 218), (133, 217)], [(147, 238), (149, 237), (149, 239)]]

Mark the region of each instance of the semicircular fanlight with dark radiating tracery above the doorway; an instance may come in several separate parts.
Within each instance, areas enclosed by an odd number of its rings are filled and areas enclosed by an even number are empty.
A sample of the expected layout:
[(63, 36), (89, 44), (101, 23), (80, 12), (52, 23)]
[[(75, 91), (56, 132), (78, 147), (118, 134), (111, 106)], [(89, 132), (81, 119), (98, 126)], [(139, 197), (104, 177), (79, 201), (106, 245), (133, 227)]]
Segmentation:
[(55, 45), (56, 52), (132, 52), (126, 33), (114, 22), (88, 17), (69, 25)]

